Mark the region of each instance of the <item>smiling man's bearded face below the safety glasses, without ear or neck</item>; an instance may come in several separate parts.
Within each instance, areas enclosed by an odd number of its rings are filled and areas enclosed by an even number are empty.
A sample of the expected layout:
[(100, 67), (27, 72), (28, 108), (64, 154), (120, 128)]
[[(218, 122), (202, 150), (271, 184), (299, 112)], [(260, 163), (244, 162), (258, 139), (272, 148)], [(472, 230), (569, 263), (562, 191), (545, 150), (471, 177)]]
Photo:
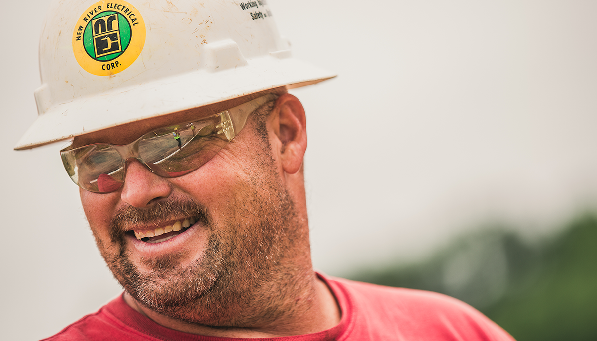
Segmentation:
[[(238, 318), (247, 304), (280, 313), (262, 297), (284, 277), (298, 216), (266, 120), (251, 115), (238, 137), (187, 175), (160, 178), (133, 160), (121, 190), (81, 190), (101, 255), (137, 301), (210, 325), (229, 323), (233, 313), (237, 325), (250, 325), (252, 312)], [(143, 134), (130, 133), (131, 140)]]

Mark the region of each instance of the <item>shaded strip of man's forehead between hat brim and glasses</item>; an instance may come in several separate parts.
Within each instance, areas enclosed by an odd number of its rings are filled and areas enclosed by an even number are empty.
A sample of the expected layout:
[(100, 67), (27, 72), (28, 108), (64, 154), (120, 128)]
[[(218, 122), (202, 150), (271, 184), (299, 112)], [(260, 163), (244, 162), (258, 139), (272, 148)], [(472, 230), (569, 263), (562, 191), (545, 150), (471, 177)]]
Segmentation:
[(214, 114), (220, 113), (221, 111), (226, 111), (230, 108), (239, 106), (242, 103), (252, 100), (256, 96), (256, 94), (248, 95), (235, 98), (234, 100), (212, 104), (210, 106), (179, 111), (177, 113), (167, 114), (164, 116), (150, 117), (136, 122), (126, 123), (124, 125), (102, 129), (101, 131), (79, 135), (73, 139), (73, 147), (99, 142), (127, 144), (133, 142), (141, 135), (152, 131), (152, 129), (212, 116)]

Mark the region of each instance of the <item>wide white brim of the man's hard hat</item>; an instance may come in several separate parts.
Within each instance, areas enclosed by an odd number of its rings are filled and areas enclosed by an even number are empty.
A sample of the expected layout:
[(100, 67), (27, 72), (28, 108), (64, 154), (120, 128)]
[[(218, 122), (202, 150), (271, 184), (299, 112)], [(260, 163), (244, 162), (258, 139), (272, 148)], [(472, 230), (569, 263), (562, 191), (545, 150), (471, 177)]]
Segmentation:
[(281, 86), (298, 88), (311, 85), (334, 76), (295, 58), (266, 56), (253, 58), (248, 65), (238, 68), (215, 71), (200, 69), (127, 88), (115, 88), (101, 96), (52, 104), (44, 114), (38, 116), (14, 149), (35, 148)]

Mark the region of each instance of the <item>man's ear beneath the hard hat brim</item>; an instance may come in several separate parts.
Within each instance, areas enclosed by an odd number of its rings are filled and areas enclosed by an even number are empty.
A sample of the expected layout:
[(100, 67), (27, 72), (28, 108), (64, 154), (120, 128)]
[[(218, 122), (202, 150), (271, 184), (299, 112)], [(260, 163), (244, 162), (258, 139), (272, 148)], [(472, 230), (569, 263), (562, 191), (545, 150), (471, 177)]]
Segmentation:
[(278, 151), (282, 169), (288, 174), (298, 172), (307, 149), (307, 119), (303, 104), (296, 97), (284, 94), (273, 107), (273, 132), (281, 142)]

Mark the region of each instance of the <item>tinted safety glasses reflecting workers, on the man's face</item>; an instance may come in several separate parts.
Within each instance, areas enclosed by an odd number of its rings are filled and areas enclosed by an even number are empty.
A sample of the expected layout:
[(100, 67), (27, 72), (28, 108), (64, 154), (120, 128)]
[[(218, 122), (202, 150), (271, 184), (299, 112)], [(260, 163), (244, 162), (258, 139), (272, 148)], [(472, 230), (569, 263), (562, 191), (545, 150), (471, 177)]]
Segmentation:
[(205, 165), (244, 128), (247, 117), (275, 100), (268, 94), (200, 120), (153, 129), (130, 144), (96, 143), (60, 151), (75, 184), (94, 193), (110, 193), (124, 184), (127, 160), (137, 159), (156, 175), (176, 178)]

